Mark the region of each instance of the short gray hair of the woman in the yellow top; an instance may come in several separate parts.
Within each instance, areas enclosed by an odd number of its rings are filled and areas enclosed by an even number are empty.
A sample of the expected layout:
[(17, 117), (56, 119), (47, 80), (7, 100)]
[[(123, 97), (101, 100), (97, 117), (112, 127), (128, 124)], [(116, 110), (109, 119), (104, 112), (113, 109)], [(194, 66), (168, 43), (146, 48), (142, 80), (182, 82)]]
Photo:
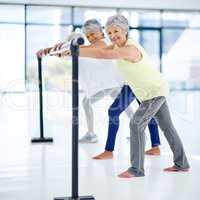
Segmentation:
[(128, 20), (123, 15), (120, 15), (120, 14), (113, 15), (113, 16), (109, 17), (107, 22), (106, 22), (105, 27), (107, 28), (108, 26), (119, 26), (126, 33), (128, 33), (128, 31), (129, 31)]

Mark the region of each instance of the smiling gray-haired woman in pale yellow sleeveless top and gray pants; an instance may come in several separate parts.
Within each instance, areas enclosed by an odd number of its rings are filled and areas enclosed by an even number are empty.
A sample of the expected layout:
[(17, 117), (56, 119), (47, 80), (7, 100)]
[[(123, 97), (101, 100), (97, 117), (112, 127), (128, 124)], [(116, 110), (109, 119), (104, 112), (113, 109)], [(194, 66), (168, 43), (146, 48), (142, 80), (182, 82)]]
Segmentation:
[(172, 123), (166, 101), (168, 83), (151, 64), (145, 50), (128, 40), (128, 21), (122, 15), (110, 17), (106, 32), (112, 42), (107, 49), (80, 49), (80, 56), (104, 59), (118, 59), (118, 69), (133, 88), (141, 104), (130, 121), (131, 166), (119, 174), (121, 178), (144, 176), (144, 130), (155, 117), (173, 152), (174, 165), (164, 169), (168, 172), (185, 172), (189, 163), (183, 144)]

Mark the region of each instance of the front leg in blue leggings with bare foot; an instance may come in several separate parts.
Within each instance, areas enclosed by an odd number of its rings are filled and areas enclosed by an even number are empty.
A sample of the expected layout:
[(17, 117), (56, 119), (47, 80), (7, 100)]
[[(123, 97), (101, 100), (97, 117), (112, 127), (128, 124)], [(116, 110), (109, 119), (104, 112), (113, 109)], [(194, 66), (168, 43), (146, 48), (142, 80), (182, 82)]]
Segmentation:
[(128, 85), (124, 85), (120, 94), (108, 109), (109, 127), (105, 152), (94, 157), (95, 159), (112, 158), (112, 151), (114, 150), (115, 146), (116, 134), (119, 129), (119, 116), (130, 105), (134, 98), (135, 95), (133, 94), (131, 88)]

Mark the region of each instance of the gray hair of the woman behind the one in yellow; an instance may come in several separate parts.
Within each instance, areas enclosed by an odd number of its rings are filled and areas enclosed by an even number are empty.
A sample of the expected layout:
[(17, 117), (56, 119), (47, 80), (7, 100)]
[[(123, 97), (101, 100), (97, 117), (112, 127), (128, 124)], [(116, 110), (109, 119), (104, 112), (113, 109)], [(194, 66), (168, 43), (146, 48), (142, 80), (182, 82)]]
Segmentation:
[(103, 31), (101, 24), (96, 19), (87, 20), (83, 25), (83, 33)]

